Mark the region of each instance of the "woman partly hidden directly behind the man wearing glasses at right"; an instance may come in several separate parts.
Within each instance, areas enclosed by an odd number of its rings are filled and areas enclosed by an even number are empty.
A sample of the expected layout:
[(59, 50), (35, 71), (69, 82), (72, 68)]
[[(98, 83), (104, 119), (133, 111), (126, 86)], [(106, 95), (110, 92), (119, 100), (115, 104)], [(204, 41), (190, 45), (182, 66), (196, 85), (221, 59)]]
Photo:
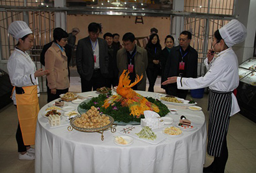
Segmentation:
[[(174, 47), (174, 37), (171, 35), (167, 35), (165, 37), (165, 49), (163, 49), (160, 54), (160, 66), (161, 66), (161, 76), (162, 76), (161, 83), (163, 83), (164, 81), (163, 74), (165, 72), (165, 64), (167, 62), (167, 58), (169, 57), (170, 49), (172, 49), (172, 47)], [(161, 85), (161, 87), (165, 89), (165, 86)], [(165, 93), (167, 93), (166, 89), (165, 89)]]

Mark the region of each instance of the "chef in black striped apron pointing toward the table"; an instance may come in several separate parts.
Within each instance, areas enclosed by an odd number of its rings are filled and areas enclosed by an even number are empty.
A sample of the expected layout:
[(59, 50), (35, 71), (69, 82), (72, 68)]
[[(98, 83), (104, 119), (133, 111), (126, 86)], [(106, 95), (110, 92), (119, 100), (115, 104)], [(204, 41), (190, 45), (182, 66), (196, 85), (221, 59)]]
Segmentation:
[[(215, 156), (214, 162), (204, 172), (224, 172), (227, 163), (227, 130), (230, 116), (240, 111), (236, 96), (232, 93), (239, 85), (237, 56), (234, 44), (244, 41), (246, 28), (236, 19), (215, 31), (213, 49), (207, 52), (204, 63), (208, 69), (204, 77), (197, 79), (169, 77), (163, 85), (177, 82), (178, 89), (208, 87), (209, 128), (207, 153)], [(218, 52), (218, 53), (217, 53)]]

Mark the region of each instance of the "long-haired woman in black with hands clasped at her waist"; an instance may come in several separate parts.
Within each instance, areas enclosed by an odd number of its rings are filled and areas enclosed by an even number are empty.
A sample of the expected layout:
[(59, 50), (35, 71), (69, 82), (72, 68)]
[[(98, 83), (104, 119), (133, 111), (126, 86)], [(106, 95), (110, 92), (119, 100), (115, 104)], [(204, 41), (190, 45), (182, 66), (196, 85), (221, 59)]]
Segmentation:
[(158, 34), (151, 34), (146, 45), (147, 50), (147, 79), (149, 80), (148, 91), (154, 92), (154, 83), (160, 71), (160, 53), (162, 51)]

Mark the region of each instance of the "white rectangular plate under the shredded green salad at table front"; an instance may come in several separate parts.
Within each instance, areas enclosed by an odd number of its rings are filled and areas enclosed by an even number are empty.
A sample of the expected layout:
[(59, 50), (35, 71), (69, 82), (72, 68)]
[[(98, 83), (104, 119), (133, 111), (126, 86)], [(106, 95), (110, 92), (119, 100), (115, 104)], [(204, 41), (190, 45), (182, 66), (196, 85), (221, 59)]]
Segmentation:
[[(142, 140), (144, 142), (148, 142), (149, 144), (158, 144), (160, 142), (162, 142), (163, 140), (166, 139), (166, 137), (162, 134), (162, 133), (159, 133), (157, 132), (157, 129), (156, 130), (153, 130), (153, 132), (156, 134), (156, 139), (154, 140), (151, 140), (151, 139), (144, 139), (144, 138), (139, 138), (138, 135), (136, 135), (135, 133), (139, 133), (140, 130), (142, 130), (142, 127), (141, 126), (133, 126), (135, 128), (133, 128), (131, 131), (127, 132), (126, 133), (123, 131), (124, 128), (129, 128), (131, 127), (131, 125), (127, 125), (127, 126), (121, 126), (120, 128), (118, 128), (117, 132), (123, 134), (123, 135), (128, 135), (130, 137), (133, 137), (135, 139), (139, 139), (139, 140)], [(159, 130), (158, 130), (159, 131)], [(161, 132), (161, 131), (160, 131)]]

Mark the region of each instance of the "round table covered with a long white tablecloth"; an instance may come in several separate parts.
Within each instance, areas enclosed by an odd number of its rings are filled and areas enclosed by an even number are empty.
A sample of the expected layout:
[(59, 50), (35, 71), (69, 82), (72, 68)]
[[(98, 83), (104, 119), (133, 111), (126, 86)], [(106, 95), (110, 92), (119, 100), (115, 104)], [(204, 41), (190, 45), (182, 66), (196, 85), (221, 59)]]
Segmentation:
[[(163, 94), (146, 91), (136, 91), (142, 96), (160, 98)], [(98, 96), (98, 92), (79, 93), (88, 98)], [(51, 127), (43, 114), (50, 102), (43, 106), (38, 113), (35, 141), (35, 172), (88, 172), (88, 173), (200, 173), (206, 158), (206, 120), (202, 110), (193, 111), (188, 107), (177, 106), (177, 113), (167, 114), (174, 122), (178, 122), (181, 115), (193, 122), (193, 130), (183, 130), (179, 137), (165, 136), (158, 144), (151, 144), (133, 138), (128, 146), (117, 145), (115, 137), (124, 135), (119, 133), (122, 125), (103, 132), (80, 132), (68, 130), (70, 124)], [(79, 104), (67, 102), (66, 105), (77, 109)], [(172, 105), (175, 107), (175, 105)], [(118, 110), (117, 110), (118, 111)], [(62, 116), (66, 119), (66, 117)], [(63, 122), (63, 121), (62, 121)], [(65, 120), (68, 122), (68, 119)], [(134, 125), (140, 128), (140, 125)], [(164, 127), (172, 126), (165, 124)], [(156, 135), (163, 135), (162, 129), (156, 130)]]

